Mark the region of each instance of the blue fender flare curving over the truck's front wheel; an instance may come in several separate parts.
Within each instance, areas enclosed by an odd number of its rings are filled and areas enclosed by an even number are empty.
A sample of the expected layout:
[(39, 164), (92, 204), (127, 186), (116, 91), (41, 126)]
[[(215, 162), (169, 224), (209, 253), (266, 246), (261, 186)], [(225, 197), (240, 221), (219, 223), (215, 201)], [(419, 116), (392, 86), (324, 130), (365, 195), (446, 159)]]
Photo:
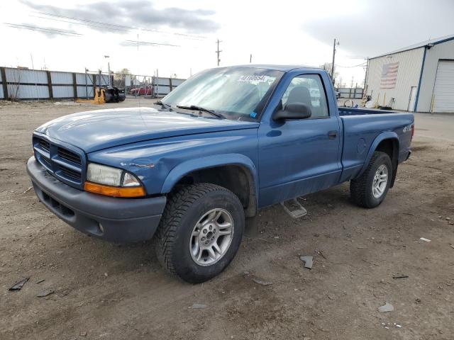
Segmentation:
[(169, 193), (175, 184), (192, 171), (213, 168), (215, 166), (237, 165), (245, 168), (253, 181), (255, 200), (258, 201), (258, 176), (253, 161), (244, 154), (214, 154), (211, 156), (190, 159), (173, 168), (162, 184), (161, 193)]

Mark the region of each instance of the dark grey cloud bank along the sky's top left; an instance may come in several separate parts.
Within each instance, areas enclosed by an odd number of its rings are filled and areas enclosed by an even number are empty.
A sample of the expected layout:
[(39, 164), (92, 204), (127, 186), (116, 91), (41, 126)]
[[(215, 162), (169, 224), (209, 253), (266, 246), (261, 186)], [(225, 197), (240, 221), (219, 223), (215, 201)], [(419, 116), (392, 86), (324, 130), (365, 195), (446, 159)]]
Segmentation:
[(216, 13), (214, 11), (176, 7), (158, 9), (147, 0), (97, 1), (77, 8), (42, 5), (28, 0), (21, 2), (50, 20), (72, 22), (102, 32), (112, 30), (116, 33), (127, 33), (135, 28), (153, 30), (165, 26), (199, 34), (220, 28), (218, 23), (211, 19)]

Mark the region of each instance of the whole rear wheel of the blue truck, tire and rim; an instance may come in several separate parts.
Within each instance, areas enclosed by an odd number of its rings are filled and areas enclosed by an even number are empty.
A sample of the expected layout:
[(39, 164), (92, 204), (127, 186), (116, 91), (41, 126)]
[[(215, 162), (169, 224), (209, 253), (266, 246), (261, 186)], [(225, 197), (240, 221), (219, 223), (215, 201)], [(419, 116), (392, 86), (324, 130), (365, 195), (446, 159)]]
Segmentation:
[(389, 190), (391, 176), (392, 164), (388, 154), (374, 152), (364, 173), (350, 181), (352, 200), (365, 208), (380, 205)]

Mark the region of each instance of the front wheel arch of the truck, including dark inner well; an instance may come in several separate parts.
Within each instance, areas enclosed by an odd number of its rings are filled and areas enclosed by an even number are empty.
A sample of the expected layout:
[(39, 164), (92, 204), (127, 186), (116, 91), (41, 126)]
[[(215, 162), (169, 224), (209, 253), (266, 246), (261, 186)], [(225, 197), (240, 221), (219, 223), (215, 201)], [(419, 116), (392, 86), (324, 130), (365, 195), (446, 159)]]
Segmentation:
[(255, 164), (243, 154), (218, 154), (190, 159), (175, 166), (165, 179), (161, 193), (170, 193), (180, 185), (213, 183), (228, 188), (243, 203), (245, 216), (258, 209), (258, 178)]

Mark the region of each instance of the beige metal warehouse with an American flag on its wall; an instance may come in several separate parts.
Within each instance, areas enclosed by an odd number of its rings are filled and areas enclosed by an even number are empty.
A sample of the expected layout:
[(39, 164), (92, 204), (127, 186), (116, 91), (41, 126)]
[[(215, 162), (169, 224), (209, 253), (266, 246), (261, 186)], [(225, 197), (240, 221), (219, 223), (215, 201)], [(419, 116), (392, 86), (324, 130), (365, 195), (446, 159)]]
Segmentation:
[(366, 84), (379, 106), (454, 113), (454, 35), (371, 58)]

